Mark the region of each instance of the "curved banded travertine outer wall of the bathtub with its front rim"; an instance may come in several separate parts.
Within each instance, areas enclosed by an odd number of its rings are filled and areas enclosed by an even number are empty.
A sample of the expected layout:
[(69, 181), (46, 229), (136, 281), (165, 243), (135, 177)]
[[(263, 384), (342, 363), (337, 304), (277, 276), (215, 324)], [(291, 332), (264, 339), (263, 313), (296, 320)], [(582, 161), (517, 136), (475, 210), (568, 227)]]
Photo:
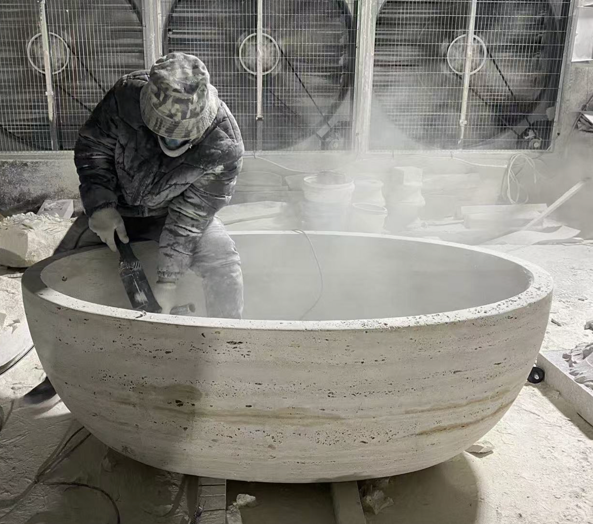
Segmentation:
[(206, 327), (59, 294), (41, 280), (51, 261), (25, 273), (24, 303), (75, 417), (138, 461), (250, 481), (386, 477), (452, 458), (517, 397), (551, 303), (538, 270), (535, 287), (478, 318)]

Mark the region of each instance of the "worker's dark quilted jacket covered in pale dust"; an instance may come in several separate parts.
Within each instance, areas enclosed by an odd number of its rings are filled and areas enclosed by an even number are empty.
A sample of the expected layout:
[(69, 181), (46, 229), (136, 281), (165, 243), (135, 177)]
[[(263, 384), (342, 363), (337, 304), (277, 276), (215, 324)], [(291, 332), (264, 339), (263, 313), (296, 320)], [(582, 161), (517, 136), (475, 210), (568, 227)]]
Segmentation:
[(158, 277), (176, 281), (189, 268), (203, 230), (231, 199), (243, 139), (221, 101), (208, 130), (186, 153), (169, 157), (142, 120), (140, 91), (146, 82), (148, 71), (116, 82), (79, 131), (74, 162), (87, 215), (106, 207), (127, 216), (168, 214)]

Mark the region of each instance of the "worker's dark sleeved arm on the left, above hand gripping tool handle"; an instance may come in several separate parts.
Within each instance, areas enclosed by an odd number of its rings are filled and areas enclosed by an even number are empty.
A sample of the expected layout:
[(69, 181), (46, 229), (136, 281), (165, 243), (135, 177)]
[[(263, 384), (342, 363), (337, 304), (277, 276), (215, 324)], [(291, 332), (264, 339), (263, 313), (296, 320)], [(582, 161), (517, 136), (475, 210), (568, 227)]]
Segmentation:
[(95, 107), (79, 131), (74, 147), (80, 196), (89, 216), (98, 209), (114, 208), (117, 204), (115, 147), (118, 112), (114, 91), (118, 84)]

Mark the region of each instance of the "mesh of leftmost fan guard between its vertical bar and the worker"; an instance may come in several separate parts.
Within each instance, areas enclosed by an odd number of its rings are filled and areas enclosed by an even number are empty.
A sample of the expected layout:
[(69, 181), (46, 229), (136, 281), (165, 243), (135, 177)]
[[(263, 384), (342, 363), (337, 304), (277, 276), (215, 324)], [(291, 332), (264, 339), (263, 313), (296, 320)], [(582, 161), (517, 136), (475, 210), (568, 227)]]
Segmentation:
[(144, 69), (141, 2), (48, 0), (54, 91), (63, 149), (122, 75)]

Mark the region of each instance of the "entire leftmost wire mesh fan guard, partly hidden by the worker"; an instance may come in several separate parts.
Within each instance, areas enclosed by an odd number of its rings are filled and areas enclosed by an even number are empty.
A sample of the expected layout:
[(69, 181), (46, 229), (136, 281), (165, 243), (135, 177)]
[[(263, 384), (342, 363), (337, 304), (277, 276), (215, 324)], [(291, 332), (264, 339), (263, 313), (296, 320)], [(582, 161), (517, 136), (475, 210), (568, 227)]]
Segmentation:
[[(0, 150), (50, 150), (39, 2), (0, 0)], [(47, 0), (58, 147), (116, 80), (144, 68), (141, 9), (132, 0)]]

